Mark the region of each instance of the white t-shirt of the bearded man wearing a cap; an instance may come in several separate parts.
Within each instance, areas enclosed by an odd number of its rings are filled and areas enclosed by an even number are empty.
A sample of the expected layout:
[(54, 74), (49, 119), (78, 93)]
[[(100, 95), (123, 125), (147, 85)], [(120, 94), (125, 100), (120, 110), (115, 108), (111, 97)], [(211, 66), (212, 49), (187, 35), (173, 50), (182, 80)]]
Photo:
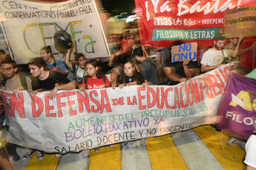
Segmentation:
[[(223, 51), (223, 52), (222, 52)], [(223, 56), (224, 54), (224, 56)], [(201, 64), (204, 64), (206, 66), (216, 66), (222, 63), (223, 58), (227, 57), (225, 50), (207, 50), (203, 53), (203, 57), (201, 60)]]

